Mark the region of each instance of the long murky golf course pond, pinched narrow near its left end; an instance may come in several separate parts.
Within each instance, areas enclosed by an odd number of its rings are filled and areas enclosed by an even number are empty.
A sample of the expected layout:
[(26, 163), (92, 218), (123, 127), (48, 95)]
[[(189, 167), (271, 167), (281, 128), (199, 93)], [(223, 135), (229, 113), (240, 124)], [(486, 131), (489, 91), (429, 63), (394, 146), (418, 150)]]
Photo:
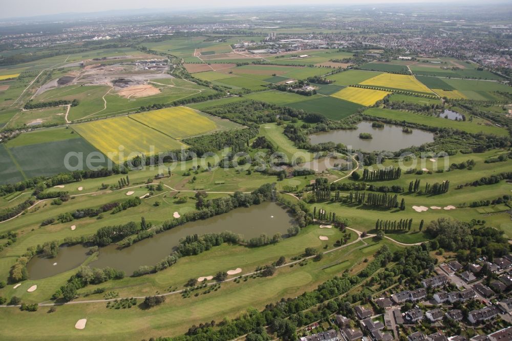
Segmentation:
[[(243, 235), (244, 239), (258, 237), (262, 233), (271, 237), (278, 232), (285, 235), (288, 227), (293, 224), (294, 219), (286, 207), (274, 202), (264, 202), (260, 205), (237, 208), (206, 220), (189, 222), (129, 247), (102, 247), (99, 249), (98, 259), (89, 266), (109, 266), (131, 275), (142, 265), (157, 264), (173, 251), (181, 238), (188, 235), (231, 231)], [(33, 257), (27, 264), (29, 278), (38, 280), (74, 269), (87, 259), (88, 250), (89, 248), (82, 245), (64, 246), (60, 248), (56, 258)]]

